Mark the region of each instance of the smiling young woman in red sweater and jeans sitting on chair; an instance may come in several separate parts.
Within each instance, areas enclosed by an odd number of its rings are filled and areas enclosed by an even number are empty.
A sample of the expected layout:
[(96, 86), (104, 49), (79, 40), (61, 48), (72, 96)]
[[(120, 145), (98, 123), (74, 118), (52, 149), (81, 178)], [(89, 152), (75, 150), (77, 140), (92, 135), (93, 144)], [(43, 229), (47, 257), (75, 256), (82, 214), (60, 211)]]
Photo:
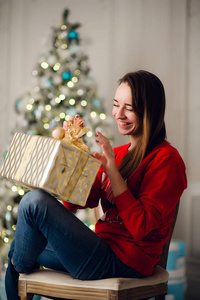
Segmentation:
[(138, 71), (119, 81), (113, 116), (130, 143), (113, 150), (96, 134), (103, 154), (94, 156), (102, 165), (86, 205), (101, 201), (95, 233), (71, 212), (80, 207), (42, 190), (27, 193), (9, 252), (8, 300), (19, 299), (18, 274), (39, 265), (85, 280), (152, 274), (187, 185), (184, 162), (166, 141), (164, 113), (164, 88), (155, 75)]

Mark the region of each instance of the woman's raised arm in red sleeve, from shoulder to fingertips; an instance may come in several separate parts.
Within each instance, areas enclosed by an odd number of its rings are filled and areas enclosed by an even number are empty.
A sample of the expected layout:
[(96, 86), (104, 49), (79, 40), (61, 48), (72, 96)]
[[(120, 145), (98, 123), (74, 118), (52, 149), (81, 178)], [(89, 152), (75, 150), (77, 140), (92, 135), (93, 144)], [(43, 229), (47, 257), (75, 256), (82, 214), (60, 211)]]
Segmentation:
[[(133, 238), (139, 240), (161, 224), (169, 224), (187, 185), (185, 165), (176, 149), (165, 147), (146, 157), (133, 180), (129, 178), (127, 187), (117, 170), (109, 141), (101, 134), (98, 134), (97, 141), (103, 154), (94, 153), (94, 156), (105, 168), (119, 215)], [(139, 182), (138, 189), (136, 181)]]

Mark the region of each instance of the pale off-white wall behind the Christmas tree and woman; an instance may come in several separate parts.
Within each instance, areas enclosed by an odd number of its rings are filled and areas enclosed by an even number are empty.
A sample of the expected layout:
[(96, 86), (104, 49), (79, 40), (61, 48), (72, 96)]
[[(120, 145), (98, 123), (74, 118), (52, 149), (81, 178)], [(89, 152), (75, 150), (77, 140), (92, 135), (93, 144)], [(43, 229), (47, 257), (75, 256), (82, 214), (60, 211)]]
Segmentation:
[[(108, 113), (125, 72), (146, 69), (163, 81), (168, 139), (189, 179), (175, 236), (191, 241), (192, 197), (200, 195), (199, 0), (0, 0), (0, 156), (10, 143), (15, 100), (31, 88), (31, 71), (64, 8), (71, 22), (82, 24), (91, 75)], [(124, 141), (116, 133), (115, 145)]]

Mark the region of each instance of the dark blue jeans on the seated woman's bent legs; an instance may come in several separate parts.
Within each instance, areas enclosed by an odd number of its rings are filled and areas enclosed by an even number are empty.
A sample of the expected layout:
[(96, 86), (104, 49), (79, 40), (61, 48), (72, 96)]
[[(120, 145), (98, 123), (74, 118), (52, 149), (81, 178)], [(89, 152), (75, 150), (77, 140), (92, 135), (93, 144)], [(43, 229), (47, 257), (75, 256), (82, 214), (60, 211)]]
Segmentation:
[(106, 241), (42, 190), (33, 190), (21, 200), (8, 256), (8, 300), (19, 299), (19, 273), (28, 273), (39, 265), (69, 272), (82, 280), (144, 277), (120, 261)]

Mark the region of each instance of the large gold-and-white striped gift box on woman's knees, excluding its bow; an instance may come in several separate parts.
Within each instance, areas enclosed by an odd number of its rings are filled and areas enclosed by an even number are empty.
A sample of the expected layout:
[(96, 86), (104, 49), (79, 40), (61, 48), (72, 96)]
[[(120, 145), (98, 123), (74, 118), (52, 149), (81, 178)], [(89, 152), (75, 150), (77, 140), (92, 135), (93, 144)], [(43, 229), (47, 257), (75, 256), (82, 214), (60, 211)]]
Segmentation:
[(99, 167), (97, 159), (63, 141), (16, 133), (0, 176), (84, 206)]

